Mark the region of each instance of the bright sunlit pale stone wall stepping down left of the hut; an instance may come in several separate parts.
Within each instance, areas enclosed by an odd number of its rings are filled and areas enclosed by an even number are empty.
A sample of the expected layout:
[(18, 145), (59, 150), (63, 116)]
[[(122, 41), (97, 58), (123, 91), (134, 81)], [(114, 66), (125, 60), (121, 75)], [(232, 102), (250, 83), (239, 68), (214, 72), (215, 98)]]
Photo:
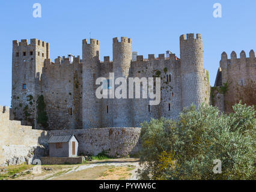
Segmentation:
[(10, 109), (0, 106), (0, 166), (31, 164), (47, 155), (47, 131), (32, 130), (9, 119)]

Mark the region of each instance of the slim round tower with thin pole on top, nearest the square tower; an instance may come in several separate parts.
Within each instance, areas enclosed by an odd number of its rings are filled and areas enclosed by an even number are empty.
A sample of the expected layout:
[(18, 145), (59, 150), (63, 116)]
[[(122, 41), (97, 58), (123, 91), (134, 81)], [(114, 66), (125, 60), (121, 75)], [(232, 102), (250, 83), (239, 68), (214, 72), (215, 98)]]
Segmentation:
[(82, 41), (83, 54), (83, 128), (101, 127), (100, 100), (96, 97), (96, 79), (100, 76), (100, 41)]

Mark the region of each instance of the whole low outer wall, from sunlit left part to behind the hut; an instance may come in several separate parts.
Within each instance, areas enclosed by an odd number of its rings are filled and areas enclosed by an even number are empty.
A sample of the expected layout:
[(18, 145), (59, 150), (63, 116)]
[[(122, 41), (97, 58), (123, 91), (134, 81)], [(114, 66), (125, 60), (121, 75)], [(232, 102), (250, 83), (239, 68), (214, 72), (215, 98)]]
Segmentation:
[(49, 154), (48, 139), (52, 134), (75, 134), (79, 155), (105, 152), (113, 157), (138, 155), (141, 128), (99, 128), (86, 130), (34, 130), (10, 120), (10, 108), (0, 106), (0, 167), (31, 164)]

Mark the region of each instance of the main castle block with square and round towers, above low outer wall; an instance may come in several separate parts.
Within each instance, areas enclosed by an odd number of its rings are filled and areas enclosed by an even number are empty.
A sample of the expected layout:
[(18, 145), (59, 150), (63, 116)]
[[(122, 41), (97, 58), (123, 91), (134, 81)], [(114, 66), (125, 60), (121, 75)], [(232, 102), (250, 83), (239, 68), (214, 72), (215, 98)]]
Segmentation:
[[(180, 58), (170, 53), (132, 59), (132, 39), (113, 39), (113, 61), (100, 61), (100, 41), (82, 41), (82, 58), (50, 60), (50, 44), (13, 41), (12, 109), (14, 119), (42, 130), (139, 127), (151, 118), (177, 118), (183, 107), (210, 101), (209, 74), (204, 69), (202, 35), (180, 36)], [(149, 98), (96, 97), (96, 79), (161, 77), (160, 103)], [(109, 86), (116, 86), (109, 82)], [(127, 85), (129, 86), (129, 85)], [(142, 93), (142, 85), (141, 85)], [(142, 94), (141, 94), (142, 95)]]

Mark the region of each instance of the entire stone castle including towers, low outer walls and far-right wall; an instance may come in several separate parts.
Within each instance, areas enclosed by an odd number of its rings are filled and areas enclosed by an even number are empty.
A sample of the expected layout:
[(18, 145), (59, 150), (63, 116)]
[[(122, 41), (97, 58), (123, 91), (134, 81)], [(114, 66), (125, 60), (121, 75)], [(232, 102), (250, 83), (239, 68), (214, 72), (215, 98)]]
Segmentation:
[[(237, 101), (236, 84), (251, 85), (251, 79), (255, 85), (251, 50), (249, 58), (244, 51), (240, 58), (232, 52), (231, 59), (223, 52), (215, 86), (210, 88), (200, 34), (180, 36), (180, 59), (170, 52), (144, 59), (132, 52), (132, 40), (125, 37), (113, 39), (113, 61), (109, 56), (100, 61), (98, 40), (83, 40), (82, 53), (82, 59), (69, 55), (51, 62), (49, 43), (13, 41), (12, 108), (0, 106), (0, 166), (30, 164), (47, 155), (52, 134), (75, 134), (80, 154), (136, 155), (141, 122), (160, 116), (175, 119), (192, 103), (210, 103), (228, 112), (228, 103)], [(161, 77), (160, 103), (149, 105), (149, 98), (97, 98), (96, 79), (108, 78), (109, 73), (115, 79)], [(114, 86), (108, 79), (106, 89)]]

